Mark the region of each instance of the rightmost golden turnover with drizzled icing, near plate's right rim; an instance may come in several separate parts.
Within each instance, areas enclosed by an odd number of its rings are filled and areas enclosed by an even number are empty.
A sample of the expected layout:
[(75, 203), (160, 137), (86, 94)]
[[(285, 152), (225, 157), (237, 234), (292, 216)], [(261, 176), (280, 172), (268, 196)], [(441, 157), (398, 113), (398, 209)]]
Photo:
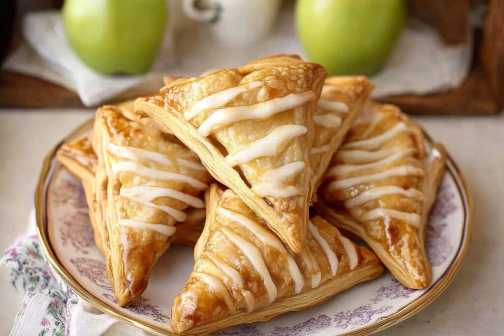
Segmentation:
[(316, 209), (365, 240), (404, 286), (424, 288), (426, 221), (445, 164), (443, 146), (426, 151), (399, 108), (369, 103), (332, 159)]

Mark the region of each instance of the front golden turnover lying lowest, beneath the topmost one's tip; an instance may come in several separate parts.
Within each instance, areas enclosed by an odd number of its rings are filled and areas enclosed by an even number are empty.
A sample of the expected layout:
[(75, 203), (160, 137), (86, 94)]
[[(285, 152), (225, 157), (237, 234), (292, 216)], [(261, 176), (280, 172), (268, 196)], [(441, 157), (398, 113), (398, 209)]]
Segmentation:
[(173, 303), (174, 332), (206, 334), (302, 310), (384, 267), (321, 217), (311, 219), (301, 253), (292, 250), (231, 189), (212, 184), (196, 263)]

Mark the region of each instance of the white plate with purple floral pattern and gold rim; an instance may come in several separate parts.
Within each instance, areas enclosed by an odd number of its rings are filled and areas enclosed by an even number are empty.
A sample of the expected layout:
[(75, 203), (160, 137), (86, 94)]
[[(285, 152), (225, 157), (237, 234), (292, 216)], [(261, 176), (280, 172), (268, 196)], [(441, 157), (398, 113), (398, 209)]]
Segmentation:
[[(86, 134), (91, 125), (89, 120), (65, 141)], [(427, 138), (426, 142), (429, 143)], [(128, 307), (119, 307), (107, 280), (104, 258), (94, 244), (81, 184), (55, 158), (60, 145), (47, 155), (35, 193), (38, 234), (55, 275), (98, 309), (147, 331), (173, 334), (171, 304), (191, 274), (193, 249), (172, 246), (154, 266), (142, 297)], [(355, 335), (384, 329), (425, 307), (450, 284), (469, 247), (471, 218), (467, 185), (449, 158), (428, 223), (427, 252), (432, 264), (432, 283), (428, 288), (405, 288), (386, 272), (379, 279), (337, 294), (320, 306), (214, 334)]]

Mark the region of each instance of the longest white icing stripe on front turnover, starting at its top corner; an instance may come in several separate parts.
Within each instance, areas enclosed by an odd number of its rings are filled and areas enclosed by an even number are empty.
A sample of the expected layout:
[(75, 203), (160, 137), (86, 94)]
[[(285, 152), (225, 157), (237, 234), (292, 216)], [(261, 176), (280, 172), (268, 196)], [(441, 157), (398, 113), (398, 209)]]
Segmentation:
[(300, 293), (304, 286), (303, 276), (299, 271), (299, 267), (297, 266), (294, 258), (287, 252), (287, 249), (284, 247), (282, 242), (275, 237), (273, 233), (268, 231), (263, 226), (259, 225), (255, 221), (251, 220), (245, 215), (242, 215), (238, 212), (228, 210), (225, 208), (218, 208), (217, 214), (226, 217), (227, 219), (232, 220), (234, 223), (239, 224), (240, 226), (246, 228), (248, 231), (253, 233), (259, 240), (261, 240), (264, 244), (269, 245), (275, 249), (277, 249), (287, 261), (286, 265), (289, 270), (289, 273), (294, 281), (294, 292), (296, 294)]

